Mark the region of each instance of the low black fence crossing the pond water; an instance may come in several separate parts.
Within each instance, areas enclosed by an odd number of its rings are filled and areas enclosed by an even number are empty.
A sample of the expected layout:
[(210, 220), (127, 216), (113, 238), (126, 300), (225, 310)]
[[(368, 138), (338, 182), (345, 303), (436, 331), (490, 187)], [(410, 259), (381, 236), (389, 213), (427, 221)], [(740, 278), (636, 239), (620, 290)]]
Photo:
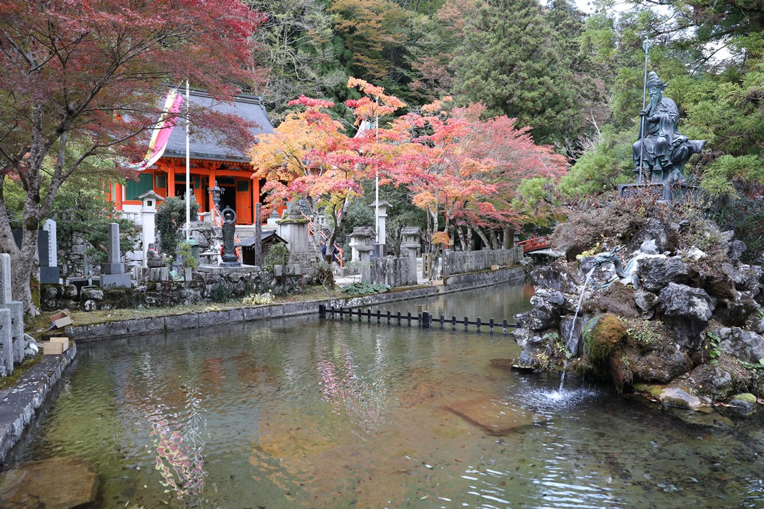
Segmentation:
[(416, 315), (413, 315), (411, 313), (401, 314), (400, 311), (397, 313), (392, 313), (391, 311), (380, 311), (377, 309), (377, 311), (372, 312), (371, 308), (367, 308), (366, 311), (363, 311), (361, 308), (358, 309), (352, 309), (352, 308), (335, 308), (332, 306), (331, 308), (327, 308), (324, 304), (319, 304), (319, 317), (321, 318), (330, 318), (332, 320), (339, 319), (341, 321), (345, 320), (345, 317), (347, 317), (348, 321), (353, 320), (353, 317), (358, 317), (358, 321), (363, 321), (364, 317), (366, 318), (367, 323), (371, 324), (372, 319), (376, 321), (377, 324), (388, 324), (388, 325), (406, 325), (408, 327), (411, 327), (411, 322), (416, 321), (416, 326), (420, 327), (422, 329), (432, 329), (436, 328), (436, 326), (440, 326), (440, 330), (445, 330), (448, 326), (451, 327), (451, 330), (456, 330), (456, 326), (464, 326), (465, 332), (469, 330), (470, 325), (474, 325), (477, 327), (476, 331), (478, 333), (482, 332), (483, 327), (488, 328), (488, 332), (493, 334), (494, 329), (501, 327), (501, 333), (506, 334), (507, 329), (510, 327), (517, 327), (517, 324), (509, 324), (507, 323), (507, 319), (503, 319), (503, 321), (494, 321), (493, 318), (490, 318), (488, 321), (482, 321), (481, 317), (478, 317), (476, 320), (472, 321), (469, 319), (469, 317), (464, 317), (463, 320), (458, 319), (455, 314), (452, 315), (451, 318), (446, 318), (444, 315), (440, 315), (440, 317), (435, 317), (433, 314), (430, 314), (429, 311), (422, 311), (421, 313), (417, 313)]

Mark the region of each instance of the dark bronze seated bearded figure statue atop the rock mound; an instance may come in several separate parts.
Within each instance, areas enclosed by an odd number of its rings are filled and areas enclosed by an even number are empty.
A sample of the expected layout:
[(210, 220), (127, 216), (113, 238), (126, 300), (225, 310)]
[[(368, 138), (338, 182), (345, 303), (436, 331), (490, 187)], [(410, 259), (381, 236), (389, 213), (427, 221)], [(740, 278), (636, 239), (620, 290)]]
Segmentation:
[(639, 140), (633, 145), (635, 171), (650, 172), (651, 182), (682, 182), (685, 164), (694, 153), (701, 153), (706, 140), (689, 140), (677, 130), (679, 108), (674, 101), (663, 96), (669, 83), (661, 81), (655, 72), (647, 79), (650, 104), (640, 111), (642, 117)]

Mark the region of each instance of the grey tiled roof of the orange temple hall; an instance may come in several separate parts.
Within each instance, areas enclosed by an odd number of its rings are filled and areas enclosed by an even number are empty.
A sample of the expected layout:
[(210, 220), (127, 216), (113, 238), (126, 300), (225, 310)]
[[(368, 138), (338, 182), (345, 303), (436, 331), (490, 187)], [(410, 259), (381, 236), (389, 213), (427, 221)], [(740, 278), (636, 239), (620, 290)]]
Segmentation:
[[(180, 91), (179, 91), (180, 92)], [(215, 101), (212, 96), (206, 92), (192, 90), (189, 92), (189, 99), (192, 104), (201, 105), (206, 108), (212, 108), (213, 111), (221, 113), (232, 113), (243, 118), (245, 121), (255, 122), (259, 127), (252, 130), (252, 134), (257, 136), (263, 133), (274, 132), (274, 125), (268, 120), (265, 106), (262, 104), (262, 98), (257, 95), (238, 95), (234, 102)], [(192, 119), (193, 121), (193, 119)], [(199, 131), (201, 129), (201, 131)], [(248, 159), (238, 150), (225, 147), (215, 140), (214, 136), (194, 135), (194, 131), (203, 134), (204, 128), (191, 124), (191, 138), (189, 140), (190, 156), (193, 159), (222, 159), (228, 161), (242, 161)], [(183, 119), (178, 121), (170, 140), (167, 141), (165, 156), (185, 157), (186, 156), (186, 122)]]

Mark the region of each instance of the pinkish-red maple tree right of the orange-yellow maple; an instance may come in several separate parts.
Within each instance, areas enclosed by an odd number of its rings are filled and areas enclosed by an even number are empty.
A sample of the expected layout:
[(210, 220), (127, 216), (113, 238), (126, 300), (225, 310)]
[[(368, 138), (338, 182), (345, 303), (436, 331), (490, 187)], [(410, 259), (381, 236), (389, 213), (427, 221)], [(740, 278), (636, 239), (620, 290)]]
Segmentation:
[[(522, 214), (516, 188), (525, 179), (558, 179), (567, 167), (552, 147), (533, 142), (529, 127), (498, 116), (482, 120), (485, 107), (452, 108), (451, 98), (435, 101), (422, 111), (397, 119), (397, 132), (416, 163), (391, 169), (393, 182), (406, 184), (413, 203), (427, 211), (432, 224), (431, 253), (436, 258), (453, 242), (457, 227), (465, 248), (465, 234), (475, 232), (497, 249), (496, 230), (520, 227), (533, 218)], [(439, 217), (445, 218), (440, 230)], [(490, 237), (494, 237), (494, 241)], [(505, 244), (506, 246), (506, 244)]]

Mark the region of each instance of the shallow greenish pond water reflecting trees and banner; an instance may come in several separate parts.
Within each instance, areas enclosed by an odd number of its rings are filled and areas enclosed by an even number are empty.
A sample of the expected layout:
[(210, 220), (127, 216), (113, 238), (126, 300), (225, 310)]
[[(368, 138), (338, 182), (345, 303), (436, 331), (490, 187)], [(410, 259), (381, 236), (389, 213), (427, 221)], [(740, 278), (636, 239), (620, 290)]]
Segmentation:
[[(382, 309), (513, 321), (530, 292)], [(764, 507), (760, 417), (558, 393), (508, 369), (509, 337), (448, 329), (316, 315), (79, 343), (6, 467), (84, 458), (93, 507)]]

